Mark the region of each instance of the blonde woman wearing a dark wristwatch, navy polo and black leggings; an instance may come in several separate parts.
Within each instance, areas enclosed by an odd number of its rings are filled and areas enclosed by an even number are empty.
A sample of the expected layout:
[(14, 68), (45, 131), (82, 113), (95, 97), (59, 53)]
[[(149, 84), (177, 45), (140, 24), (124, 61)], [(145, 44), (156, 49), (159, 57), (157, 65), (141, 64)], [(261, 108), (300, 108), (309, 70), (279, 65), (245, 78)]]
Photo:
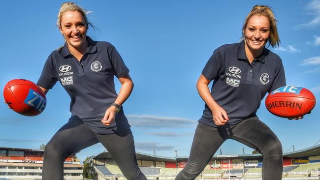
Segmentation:
[[(79, 5), (62, 4), (57, 26), (65, 44), (49, 55), (37, 85), (47, 93), (59, 81), (70, 95), (72, 115), (45, 147), (42, 180), (63, 180), (64, 159), (99, 142), (128, 180), (146, 180), (121, 107), (133, 89), (129, 70), (114, 46), (87, 36), (90, 25)], [(122, 84), (119, 94), (114, 76)]]

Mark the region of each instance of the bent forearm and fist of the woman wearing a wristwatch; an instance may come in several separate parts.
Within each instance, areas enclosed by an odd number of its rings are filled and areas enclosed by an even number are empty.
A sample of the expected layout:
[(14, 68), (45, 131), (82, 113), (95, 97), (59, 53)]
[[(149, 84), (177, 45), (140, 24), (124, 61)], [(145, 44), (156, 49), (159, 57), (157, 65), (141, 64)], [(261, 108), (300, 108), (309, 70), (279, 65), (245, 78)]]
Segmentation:
[[(118, 79), (119, 79), (122, 86), (121, 86), (119, 95), (114, 103), (121, 106), (128, 99), (129, 95), (131, 94), (132, 89), (133, 89), (133, 82), (132, 82), (129, 74), (124, 77), (119, 77)], [(112, 121), (114, 120), (114, 118), (116, 117), (116, 113), (117, 113), (117, 108), (115, 106), (109, 107), (106, 110), (105, 115), (104, 115), (103, 119), (101, 120), (101, 122), (104, 125), (107, 125), (107, 126), (110, 125), (112, 123)]]

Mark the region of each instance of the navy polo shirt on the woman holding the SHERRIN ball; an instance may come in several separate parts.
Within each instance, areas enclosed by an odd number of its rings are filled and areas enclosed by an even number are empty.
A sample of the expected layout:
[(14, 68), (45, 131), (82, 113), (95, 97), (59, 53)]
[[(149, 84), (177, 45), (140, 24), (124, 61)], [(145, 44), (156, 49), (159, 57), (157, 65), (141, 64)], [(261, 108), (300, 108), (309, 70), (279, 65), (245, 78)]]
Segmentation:
[[(256, 116), (265, 94), (286, 86), (280, 57), (264, 48), (262, 54), (250, 63), (244, 41), (216, 49), (202, 75), (213, 80), (211, 95), (229, 118), (224, 126)], [(199, 122), (217, 127), (207, 105)]]

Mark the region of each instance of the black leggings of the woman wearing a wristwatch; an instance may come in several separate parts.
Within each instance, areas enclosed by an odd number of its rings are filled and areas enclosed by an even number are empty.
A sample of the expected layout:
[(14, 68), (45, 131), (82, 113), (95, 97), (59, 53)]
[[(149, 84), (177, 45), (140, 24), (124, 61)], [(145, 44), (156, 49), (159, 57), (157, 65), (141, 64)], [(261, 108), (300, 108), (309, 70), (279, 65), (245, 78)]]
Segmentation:
[(97, 134), (76, 119), (64, 124), (45, 146), (42, 180), (63, 180), (64, 159), (98, 142), (112, 155), (128, 180), (147, 180), (138, 167), (130, 129), (116, 134)]

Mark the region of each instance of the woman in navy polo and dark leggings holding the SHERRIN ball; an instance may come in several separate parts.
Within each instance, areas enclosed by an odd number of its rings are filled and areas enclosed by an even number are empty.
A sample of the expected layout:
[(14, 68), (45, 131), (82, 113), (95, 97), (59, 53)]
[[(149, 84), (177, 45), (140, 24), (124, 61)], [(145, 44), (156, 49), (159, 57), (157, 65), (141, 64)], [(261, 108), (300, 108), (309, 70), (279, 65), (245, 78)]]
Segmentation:
[[(267, 92), (286, 85), (280, 57), (265, 46), (279, 46), (276, 19), (269, 6), (256, 5), (247, 16), (240, 43), (216, 49), (197, 82), (204, 100), (190, 157), (176, 180), (195, 179), (227, 139), (263, 155), (262, 180), (281, 180), (282, 146), (256, 111)], [(211, 92), (208, 84), (213, 82)], [(299, 117), (297, 119), (301, 119)]]

